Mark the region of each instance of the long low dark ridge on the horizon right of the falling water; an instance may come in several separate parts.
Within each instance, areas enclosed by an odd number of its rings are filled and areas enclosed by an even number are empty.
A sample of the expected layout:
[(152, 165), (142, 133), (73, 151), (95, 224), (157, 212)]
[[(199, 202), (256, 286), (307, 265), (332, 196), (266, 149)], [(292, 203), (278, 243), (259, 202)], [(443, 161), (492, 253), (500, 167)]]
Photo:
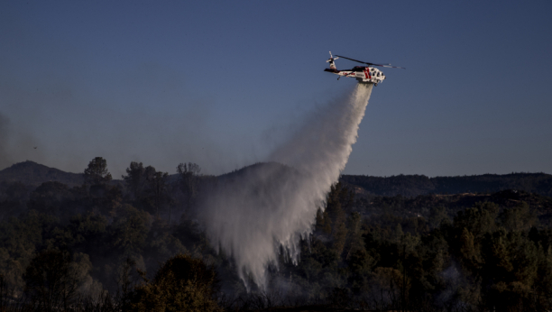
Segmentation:
[(343, 175), (341, 181), (354, 188), (356, 193), (373, 196), (416, 197), (427, 194), (494, 193), (504, 189), (517, 189), (552, 197), (552, 175), (546, 173), (436, 178), (421, 175), (399, 175), (388, 178)]

